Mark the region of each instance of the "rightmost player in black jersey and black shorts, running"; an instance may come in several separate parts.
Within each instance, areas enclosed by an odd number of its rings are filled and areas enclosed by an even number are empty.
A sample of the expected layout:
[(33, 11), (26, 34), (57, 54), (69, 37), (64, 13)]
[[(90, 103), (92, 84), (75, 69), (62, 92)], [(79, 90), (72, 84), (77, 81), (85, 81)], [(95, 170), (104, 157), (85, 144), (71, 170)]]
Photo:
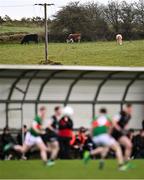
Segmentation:
[(125, 148), (124, 160), (127, 163), (131, 156), (132, 143), (127, 137), (128, 123), (131, 119), (132, 105), (126, 104), (124, 109), (113, 118), (112, 136)]

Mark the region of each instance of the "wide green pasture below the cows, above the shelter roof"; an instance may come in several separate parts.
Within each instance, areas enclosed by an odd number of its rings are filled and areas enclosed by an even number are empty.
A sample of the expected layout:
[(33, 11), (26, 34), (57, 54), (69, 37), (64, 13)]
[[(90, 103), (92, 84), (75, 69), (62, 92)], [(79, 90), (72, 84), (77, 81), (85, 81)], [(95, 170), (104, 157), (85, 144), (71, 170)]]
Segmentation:
[[(38, 64), (44, 44), (0, 44), (0, 64)], [(49, 59), (64, 65), (144, 66), (144, 41), (50, 43)]]

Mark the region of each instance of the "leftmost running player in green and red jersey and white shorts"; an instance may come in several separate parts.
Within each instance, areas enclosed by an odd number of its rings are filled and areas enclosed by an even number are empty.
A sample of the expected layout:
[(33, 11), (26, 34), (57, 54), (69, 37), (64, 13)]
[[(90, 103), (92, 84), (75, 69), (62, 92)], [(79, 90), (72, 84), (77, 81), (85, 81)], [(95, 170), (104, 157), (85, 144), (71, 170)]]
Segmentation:
[(40, 150), (40, 156), (43, 162), (47, 165), (47, 147), (45, 146), (43, 140), (41, 139), (41, 134), (43, 134), (42, 130), (42, 122), (45, 119), (46, 115), (46, 108), (42, 106), (39, 109), (38, 115), (35, 116), (32, 126), (26, 134), (24, 144), (21, 145), (14, 145), (14, 144), (7, 144), (4, 147), (4, 151), (9, 149), (14, 149), (20, 153), (26, 153), (28, 150), (36, 145)]

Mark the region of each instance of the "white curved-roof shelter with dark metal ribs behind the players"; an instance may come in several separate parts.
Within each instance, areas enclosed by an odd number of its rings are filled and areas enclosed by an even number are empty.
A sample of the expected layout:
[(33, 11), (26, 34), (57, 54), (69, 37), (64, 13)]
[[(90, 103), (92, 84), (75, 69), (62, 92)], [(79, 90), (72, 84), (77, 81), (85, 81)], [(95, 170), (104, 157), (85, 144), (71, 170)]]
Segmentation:
[(111, 115), (134, 107), (131, 128), (144, 119), (144, 68), (0, 65), (0, 129), (30, 125), (40, 105), (74, 108), (74, 127), (89, 127), (100, 107)]

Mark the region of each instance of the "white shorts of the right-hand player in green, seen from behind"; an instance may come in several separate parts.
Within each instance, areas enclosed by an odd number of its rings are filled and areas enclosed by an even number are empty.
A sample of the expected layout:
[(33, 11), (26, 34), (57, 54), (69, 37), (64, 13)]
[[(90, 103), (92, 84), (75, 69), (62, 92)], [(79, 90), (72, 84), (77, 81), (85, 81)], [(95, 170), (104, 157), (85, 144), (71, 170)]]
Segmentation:
[(95, 145), (102, 146), (112, 146), (116, 143), (115, 139), (111, 137), (109, 134), (102, 134), (93, 137), (93, 142)]

